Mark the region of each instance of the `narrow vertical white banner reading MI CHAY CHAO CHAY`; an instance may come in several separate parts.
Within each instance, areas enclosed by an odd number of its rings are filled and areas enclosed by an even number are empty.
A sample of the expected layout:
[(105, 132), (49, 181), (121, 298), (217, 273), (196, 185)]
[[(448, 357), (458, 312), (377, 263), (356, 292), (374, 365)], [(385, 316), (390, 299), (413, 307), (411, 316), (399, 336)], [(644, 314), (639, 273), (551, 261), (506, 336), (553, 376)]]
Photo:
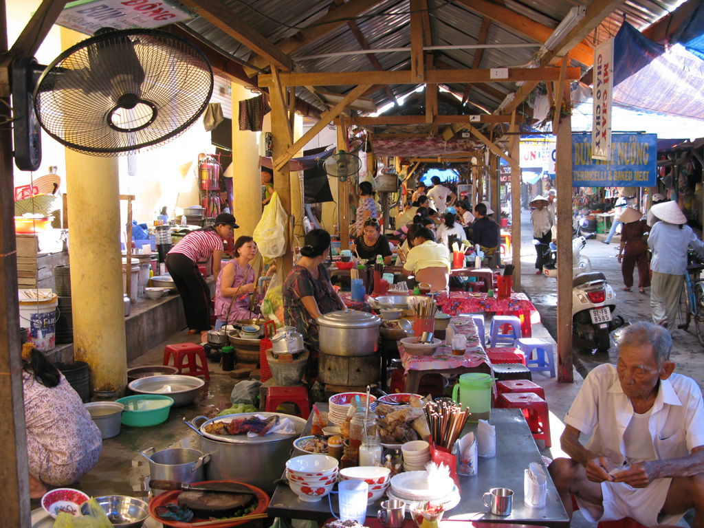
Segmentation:
[(594, 116), (591, 130), (591, 157), (610, 161), (611, 92), (613, 87), (614, 39), (594, 49)]

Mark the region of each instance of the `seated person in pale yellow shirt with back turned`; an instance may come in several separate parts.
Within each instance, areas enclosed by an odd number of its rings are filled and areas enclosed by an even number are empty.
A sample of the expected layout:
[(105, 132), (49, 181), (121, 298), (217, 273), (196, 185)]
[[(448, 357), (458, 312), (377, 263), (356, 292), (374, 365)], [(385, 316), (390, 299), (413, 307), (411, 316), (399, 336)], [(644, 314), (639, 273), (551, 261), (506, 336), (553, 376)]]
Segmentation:
[[(410, 238), (410, 236), (409, 236)], [(408, 251), (403, 275), (415, 275), (416, 282), (427, 282), (433, 291), (447, 289), (450, 278), (450, 250), (437, 244), (431, 230), (418, 227), (413, 232), (413, 249)]]

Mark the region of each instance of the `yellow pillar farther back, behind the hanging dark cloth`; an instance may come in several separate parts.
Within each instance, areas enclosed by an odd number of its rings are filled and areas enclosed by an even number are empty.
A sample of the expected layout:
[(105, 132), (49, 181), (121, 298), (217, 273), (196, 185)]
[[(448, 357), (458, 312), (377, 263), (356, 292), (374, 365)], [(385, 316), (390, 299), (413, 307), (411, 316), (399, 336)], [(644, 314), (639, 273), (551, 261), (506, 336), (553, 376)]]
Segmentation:
[[(244, 86), (232, 83), (232, 196), (234, 217), (239, 229), (234, 237), (251, 237), (262, 216), (261, 175), (259, 171), (260, 132), (239, 130), (239, 101), (255, 94)], [(260, 141), (264, 138), (261, 137)]]

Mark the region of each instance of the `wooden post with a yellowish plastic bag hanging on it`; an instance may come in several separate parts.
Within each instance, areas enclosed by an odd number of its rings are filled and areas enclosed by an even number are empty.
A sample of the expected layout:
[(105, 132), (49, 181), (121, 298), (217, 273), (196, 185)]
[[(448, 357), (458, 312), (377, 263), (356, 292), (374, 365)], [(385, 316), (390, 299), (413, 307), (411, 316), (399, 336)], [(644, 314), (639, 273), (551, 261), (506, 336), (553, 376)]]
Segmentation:
[[(289, 115), (286, 105), (286, 98), (280, 84), (278, 84), (278, 70), (272, 65), (275, 87), (270, 90), (271, 106), (271, 132), (272, 132), (272, 158), (279, 159), (289, 149), (293, 138), (291, 137), (291, 127), (289, 126)], [(289, 174), (289, 163), (274, 165), (274, 190), (279, 196), (281, 205), (286, 211), (287, 218), (291, 216), (291, 180)], [(288, 227), (289, 222), (287, 220)], [(293, 253), (291, 251), (292, 233), (286, 232), (286, 252), (277, 258), (278, 273), (285, 279), (293, 268)]]

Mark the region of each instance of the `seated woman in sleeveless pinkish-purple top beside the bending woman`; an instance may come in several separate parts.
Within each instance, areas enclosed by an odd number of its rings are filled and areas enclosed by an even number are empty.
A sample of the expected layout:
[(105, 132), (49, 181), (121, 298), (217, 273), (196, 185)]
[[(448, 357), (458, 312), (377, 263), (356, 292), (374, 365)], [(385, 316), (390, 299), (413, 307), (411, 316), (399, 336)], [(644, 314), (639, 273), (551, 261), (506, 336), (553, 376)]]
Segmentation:
[(215, 329), (234, 321), (249, 319), (251, 294), (257, 285), (252, 267), (257, 257), (257, 244), (252, 237), (238, 237), (234, 242), (234, 258), (222, 268), (215, 284)]

